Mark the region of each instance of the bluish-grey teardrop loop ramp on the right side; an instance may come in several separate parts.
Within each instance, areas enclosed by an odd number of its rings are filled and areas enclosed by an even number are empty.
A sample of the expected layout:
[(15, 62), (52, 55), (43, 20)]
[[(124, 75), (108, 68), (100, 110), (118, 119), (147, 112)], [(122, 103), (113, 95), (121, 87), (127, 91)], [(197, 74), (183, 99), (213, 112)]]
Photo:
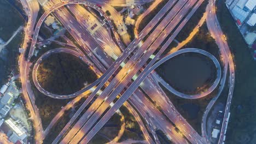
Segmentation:
[(195, 48), (182, 49), (182, 50), (176, 51), (176, 52), (171, 53), (170, 55), (162, 58), (160, 61), (155, 63), (152, 66), (152, 68), (150, 68), (149, 71), (153, 71), (154, 69), (159, 67), (159, 65), (166, 62), (168, 59), (173, 58), (177, 55), (181, 55), (182, 53), (187, 53), (187, 52), (195, 52), (195, 53), (200, 53), (201, 55), (207, 56), (208, 58), (210, 58), (212, 60), (212, 62), (214, 63), (214, 65), (217, 69), (217, 78), (214, 81), (213, 85), (210, 88), (208, 88), (206, 92), (203, 92), (203, 93), (200, 93), (200, 94), (194, 94), (194, 95), (184, 94), (184, 93), (178, 92), (176, 89), (174, 89), (173, 87), (168, 85), (163, 79), (158, 79), (158, 80), (160, 80), (159, 82), (161, 82), (161, 84), (165, 88), (167, 88), (168, 91), (172, 92), (173, 94), (177, 95), (178, 97), (185, 98), (185, 99), (199, 99), (199, 98), (205, 97), (206, 95), (210, 94), (218, 86), (218, 83), (220, 81), (220, 77), (222, 75), (221, 74), (222, 70), (220, 68), (220, 64), (219, 64), (218, 60), (216, 59), (216, 57), (214, 57), (211, 53), (209, 53), (207, 51), (204, 51), (204, 50), (201, 50), (201, 49), (195, 49)]

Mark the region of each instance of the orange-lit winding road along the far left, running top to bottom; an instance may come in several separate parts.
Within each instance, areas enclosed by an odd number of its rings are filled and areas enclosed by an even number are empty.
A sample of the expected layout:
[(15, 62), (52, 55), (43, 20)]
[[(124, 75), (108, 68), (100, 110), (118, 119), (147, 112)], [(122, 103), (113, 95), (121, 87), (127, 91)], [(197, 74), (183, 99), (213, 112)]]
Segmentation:
[[(28, 42), (30, 35), (33, 34), (33, 28), (36, 23), (38, 11), (39, 11), (39, 4), (36, 0), (32, 1), (20, 1), (22, 4), (22, 7), (25, 10), (26, 15), (28, 16), (28, 20), (26, 23), (26, 27), (24, 28), (25, 35), (24, 35), (24, 41), (22, 44), (22, 48), (26, 51), (28, 49)], [(20, 61), (20, 79), (22, 83), (22, 93), (24, 94), (24, 99), (26, 101), (26, 106), (28, 111), (31, 113), (30, 119), (32, 119), (33, 122), (33, 128), (37, 128), (34, 130), (34, 139), (36, 143), (42, 143), (42, 133), (43, 133), (43, 127), (42, 127), (42, 121), (39, 116), (38, 108), (36, 104), (34, 103), (35, 98), (34, 94), (31, 89), (30, 82), (28, 81), (28, 70), (30, 67), (30, 63), (26, 61), (25, 59), (25, 52), (21, 53), (21, 56), (19, 57)]]

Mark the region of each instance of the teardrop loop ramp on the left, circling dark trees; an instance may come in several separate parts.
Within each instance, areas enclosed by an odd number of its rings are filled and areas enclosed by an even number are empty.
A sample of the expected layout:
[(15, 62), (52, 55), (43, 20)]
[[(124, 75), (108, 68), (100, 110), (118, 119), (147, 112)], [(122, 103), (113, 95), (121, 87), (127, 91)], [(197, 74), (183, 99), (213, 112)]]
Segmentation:
[(80, 59), (84, 59), (85, 55), (79, 53), (78, 51), (75, 50), (71, 50), (71, 49), (66, 49), (66, 48), (59, 48), (59, 49), (53, 49), (50, 50), (46, 53), (44, 53), (44, 55), (40, 56), (37, 60), (37, 62), (34, 64), (33, 67), (33, 73), (32, 73), (32, 78), (33, 78), (33, 82), (34, 85), (37, 87), (38, 91), (40, 91), (41, 93), (51, 97), (51, 98), (56, 98), (56, 99), (69, 99), (69, 98), (73, 98), (76, 97), (79, 94), (82, 94), (83, 92), (88, 91), (89, 89), (91, 89), (92, 87), (96, 86), (99, 82), (101, 82), (101, 80), (103, 79), (103, 77), (97, 79), (96, 81), (92, 82), (89, 86), (83, 88), (82, 90), (75, 92), (74, 94), (66, 94), (66, 95), (58, 95), (58, 94), (53, 94), (50, 93), (48, 91), (46, 91), (44, 88), (42, 88), (37, 80), (37, 70), (39, 68), (40, 63), (42, 63), (43, 59), (45, 59), (46, 57), (49, 57), (51, 54), (53, 53), (60, 53), (60, 52), (65, 52), (65, 53), (70, 53), (71, 55), (78, 57)]

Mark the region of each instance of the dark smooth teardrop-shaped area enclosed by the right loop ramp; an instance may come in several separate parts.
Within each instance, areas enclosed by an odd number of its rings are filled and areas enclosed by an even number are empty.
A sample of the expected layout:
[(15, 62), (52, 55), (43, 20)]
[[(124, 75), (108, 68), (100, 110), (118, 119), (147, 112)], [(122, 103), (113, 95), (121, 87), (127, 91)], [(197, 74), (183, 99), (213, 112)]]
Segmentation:
[(217, 70), (212, 60), (192, 52), (169, 59), (156, 71), (170, 86), (185, 94), (206, 91), (217, 77)]

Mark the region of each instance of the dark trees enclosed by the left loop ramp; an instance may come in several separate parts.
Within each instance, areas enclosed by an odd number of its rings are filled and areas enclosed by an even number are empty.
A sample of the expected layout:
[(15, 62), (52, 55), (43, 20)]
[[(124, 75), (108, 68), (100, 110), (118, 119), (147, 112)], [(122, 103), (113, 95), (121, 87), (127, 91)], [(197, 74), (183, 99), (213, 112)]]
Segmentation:
[(51, 93), (71, 94), (97, 79), (94, 71), (79, 58), (55, 53), (40, 64), (37, 74), (40, 85)]

